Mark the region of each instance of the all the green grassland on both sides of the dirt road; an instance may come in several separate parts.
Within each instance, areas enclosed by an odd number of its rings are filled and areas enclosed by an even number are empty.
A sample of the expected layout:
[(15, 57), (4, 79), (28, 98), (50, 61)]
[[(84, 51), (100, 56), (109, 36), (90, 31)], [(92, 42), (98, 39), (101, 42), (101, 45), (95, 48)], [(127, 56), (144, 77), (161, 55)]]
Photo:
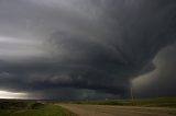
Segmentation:
[(91, 104), (176, 108), (176, 97), (96, 101), (9, 101), (0, 100), (0, 116), (76, 116), (55, 104)]

